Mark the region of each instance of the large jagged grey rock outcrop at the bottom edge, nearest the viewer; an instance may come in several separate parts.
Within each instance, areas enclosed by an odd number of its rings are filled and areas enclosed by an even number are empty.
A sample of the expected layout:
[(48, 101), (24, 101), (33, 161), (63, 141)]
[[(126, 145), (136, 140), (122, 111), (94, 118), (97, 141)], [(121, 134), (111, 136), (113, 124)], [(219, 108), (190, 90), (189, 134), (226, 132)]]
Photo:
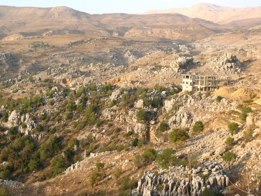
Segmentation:
[(160, 170), (156, 175), (144, 172), (138, 181), (138, 187), (132, 196), (201, 196), (212, 189), (216, 193), (225, 192), (229, 179), (218, 162), (204, 162), (197, 169), (188, 167), (170, 167)]

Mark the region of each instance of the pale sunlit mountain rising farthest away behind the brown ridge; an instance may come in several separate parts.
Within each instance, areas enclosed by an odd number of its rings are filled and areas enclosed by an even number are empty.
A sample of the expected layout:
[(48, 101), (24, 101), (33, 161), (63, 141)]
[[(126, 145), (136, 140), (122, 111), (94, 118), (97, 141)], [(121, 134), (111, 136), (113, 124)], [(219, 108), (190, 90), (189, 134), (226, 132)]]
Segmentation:
[(190, 8), (151, 10), (143, 14), (179, 13), (191, 18), (200, 18), (231, 28), (249, 28), (261, 25), (261, 7), (231, 8), (210, 3), (198, 3)]

